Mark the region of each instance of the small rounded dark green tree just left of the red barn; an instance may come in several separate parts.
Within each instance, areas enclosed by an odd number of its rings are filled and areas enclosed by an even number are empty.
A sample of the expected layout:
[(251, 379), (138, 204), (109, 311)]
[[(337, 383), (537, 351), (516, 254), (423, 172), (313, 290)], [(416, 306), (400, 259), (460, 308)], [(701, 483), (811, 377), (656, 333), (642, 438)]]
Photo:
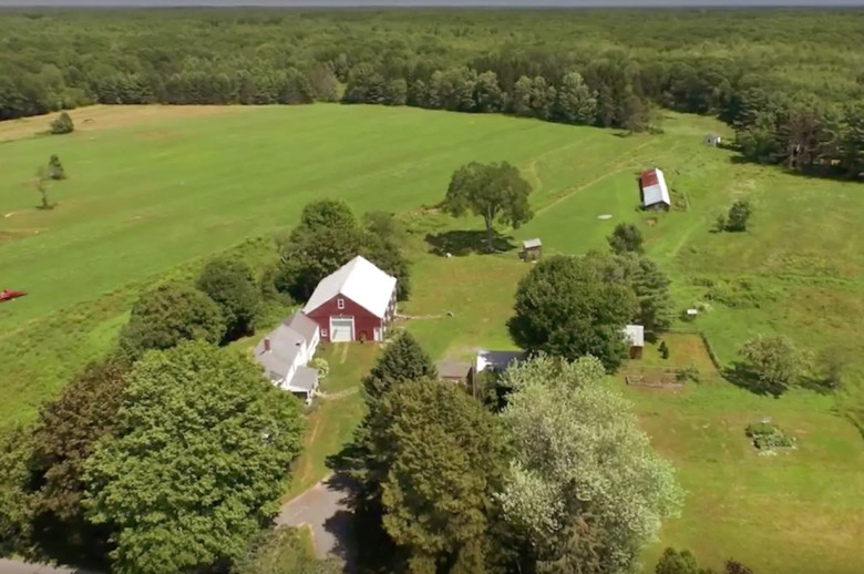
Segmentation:
[(255, 316), (261, 303), (251, 268), (239, 259), (219, 258), (208, 263), (197, 280), (222, 309), (229, 340), (255, 331)]

